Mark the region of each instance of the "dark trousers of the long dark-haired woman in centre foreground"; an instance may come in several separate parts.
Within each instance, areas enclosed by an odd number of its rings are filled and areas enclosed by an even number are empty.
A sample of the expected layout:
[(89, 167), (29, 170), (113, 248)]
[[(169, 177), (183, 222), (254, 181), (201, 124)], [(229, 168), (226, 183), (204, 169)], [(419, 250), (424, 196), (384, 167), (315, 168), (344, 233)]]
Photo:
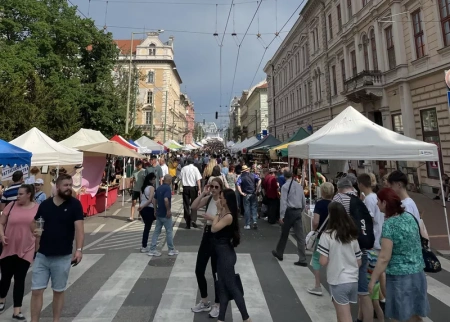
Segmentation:
[(236, 252), (229, 240), (218, 240), (215, 244), (217, 253), (217, 284), (219, 285), (219, 320), (225, 321), (228, 302), (234, 299), (236, 306), (241, 312), (242, 320), (249, 318), (247, 307), (245, 305), (244, 295), (236, 284)]

